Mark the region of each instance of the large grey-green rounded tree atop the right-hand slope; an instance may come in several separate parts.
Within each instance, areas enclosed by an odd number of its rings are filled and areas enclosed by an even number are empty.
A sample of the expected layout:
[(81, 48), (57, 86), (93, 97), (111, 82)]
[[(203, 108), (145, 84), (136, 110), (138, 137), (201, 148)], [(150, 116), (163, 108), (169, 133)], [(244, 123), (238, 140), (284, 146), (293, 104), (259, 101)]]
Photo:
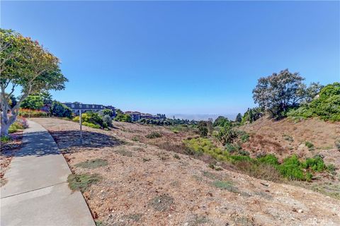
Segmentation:
[(305, 85), (299, 73), (290, 73), (288, 69), (259, 78), (253, 90), (254, 102), (271, 113), (272, 117), (282, 117), (291, 107), (296, 107), (303, 100)]

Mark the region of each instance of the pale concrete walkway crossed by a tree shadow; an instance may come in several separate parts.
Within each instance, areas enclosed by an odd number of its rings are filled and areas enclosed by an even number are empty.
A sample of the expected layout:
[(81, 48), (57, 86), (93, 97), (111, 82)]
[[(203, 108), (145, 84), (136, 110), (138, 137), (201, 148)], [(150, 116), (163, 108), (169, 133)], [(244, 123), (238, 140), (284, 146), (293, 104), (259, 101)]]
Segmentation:
[(4, 176), (0, 225), (95, 225), (80, 191), (68, 187), (71, 170), (52, 136), (33, 121), (29, 125)]

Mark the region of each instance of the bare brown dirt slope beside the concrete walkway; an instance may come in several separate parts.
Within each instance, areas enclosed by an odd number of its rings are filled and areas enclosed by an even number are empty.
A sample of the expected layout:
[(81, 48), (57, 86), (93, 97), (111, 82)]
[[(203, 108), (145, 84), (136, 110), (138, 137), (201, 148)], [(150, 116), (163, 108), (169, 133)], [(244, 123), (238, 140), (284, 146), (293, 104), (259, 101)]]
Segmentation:
[[(101, 175), (101, 181), (83, 193), (98, 225), (340, 225), (339, 200), (297, 186), (215, 171), (188, 155), (137, 141), (136, 133), (129, 131), (133, 124), (115, 124), (112, 131), (84, 126), (84, 142), (79, 145), (77, 123), (34, 121), (50, 131), (72, 172)], [(138, 128), (140, 137), (159, 129)], [(134, 135), (127, 138), (128, 133)], [(108, 164), (77, 165), (98, 158)]]

